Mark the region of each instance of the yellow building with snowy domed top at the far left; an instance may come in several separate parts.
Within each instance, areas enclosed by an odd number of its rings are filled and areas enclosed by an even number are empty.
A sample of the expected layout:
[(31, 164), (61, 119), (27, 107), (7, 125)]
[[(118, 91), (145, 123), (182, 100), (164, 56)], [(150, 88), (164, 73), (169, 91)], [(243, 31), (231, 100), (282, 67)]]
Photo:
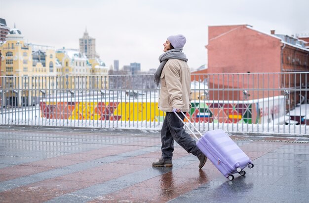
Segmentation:
[(51, 47), (25, 43), (16, 28), (6, 37), (6, 42), (0, 45), (3, 106), (36, 104), (55, 85), (55, 51)]

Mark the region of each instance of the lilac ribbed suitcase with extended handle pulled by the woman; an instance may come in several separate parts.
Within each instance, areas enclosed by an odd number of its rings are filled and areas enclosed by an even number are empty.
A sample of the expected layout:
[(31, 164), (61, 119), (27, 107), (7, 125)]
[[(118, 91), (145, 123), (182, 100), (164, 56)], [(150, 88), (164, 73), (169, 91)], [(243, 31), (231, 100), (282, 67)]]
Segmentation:
[[(182, 114), (187, 118), (183, 112)], [(187, 120), (190, 122), (188, 118)], [(183, 123), (186, 125), (184, 121)], [(238, 145), (236, 145), (236, 143), (234, 143), (234, 141), (232, 141), (230, 136), (223, 130), (211, 130), (202, 135), (191, 122), (190, 124), (201, 136), (201, 138), (198, 139), (192, 130), (186, 125), (194, 137), (198, 140), (196, 143), (197, 147), (229, 180), (234, 179), (233, 174), (246, 174), (246, 172), (243, 171), (245, 167), (253, 167), (250, 158), (239, 148)]]

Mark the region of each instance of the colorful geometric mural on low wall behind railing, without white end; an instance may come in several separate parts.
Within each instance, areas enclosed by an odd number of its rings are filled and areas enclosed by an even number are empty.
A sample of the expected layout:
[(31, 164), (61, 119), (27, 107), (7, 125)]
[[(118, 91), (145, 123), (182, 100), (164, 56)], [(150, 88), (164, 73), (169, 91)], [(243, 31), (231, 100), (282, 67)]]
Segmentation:
[[(252, 104), (192, 102), (193, 122), (252, 123)], [(40, 102), (41, 117), (119, 121), (163, 120), (155, 102)]]

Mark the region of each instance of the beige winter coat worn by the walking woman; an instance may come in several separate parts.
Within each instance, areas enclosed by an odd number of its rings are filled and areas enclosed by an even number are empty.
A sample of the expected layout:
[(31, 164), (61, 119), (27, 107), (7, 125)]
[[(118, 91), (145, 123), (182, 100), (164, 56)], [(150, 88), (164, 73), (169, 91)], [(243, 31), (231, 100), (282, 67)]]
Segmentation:
[(190, 84), (190, 68), (187, 62), (169, 59), (160, 77), (159, 110), (172, 112), (173, 109), (180, 109), (189, 112), (192, 98)]

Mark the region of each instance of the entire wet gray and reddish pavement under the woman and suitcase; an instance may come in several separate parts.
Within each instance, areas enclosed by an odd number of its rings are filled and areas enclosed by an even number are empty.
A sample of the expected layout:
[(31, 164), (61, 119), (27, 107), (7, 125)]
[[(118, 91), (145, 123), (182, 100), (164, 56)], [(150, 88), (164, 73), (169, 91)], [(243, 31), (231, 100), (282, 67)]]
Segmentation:
[(231, 136), (253, 160), (230, 181), (158, 132), (0, 128), (1, 203), (308, 203), (309, 138)]

